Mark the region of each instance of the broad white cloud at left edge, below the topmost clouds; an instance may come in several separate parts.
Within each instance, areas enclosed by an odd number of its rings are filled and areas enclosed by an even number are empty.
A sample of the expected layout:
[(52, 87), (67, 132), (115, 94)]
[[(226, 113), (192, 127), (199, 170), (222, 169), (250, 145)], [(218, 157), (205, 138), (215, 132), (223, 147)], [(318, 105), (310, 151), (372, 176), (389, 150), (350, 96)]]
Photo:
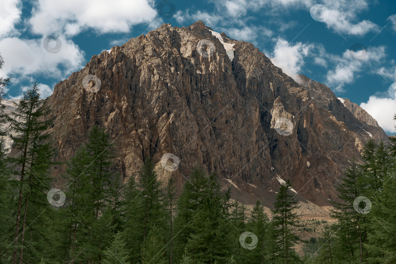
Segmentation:
[[(58, 53), (50, 53), (44, 48), (44, 37), (36, 40), (5, 38), (0, 40), (4, 66), (0, 76), (43, 74), (45, 77), (65, 78), (66, 74), (83, 67), (84, 54), (70, 40), (61, 37)], [(55, 43), (50, 42), (50, 47)], [(59, 68), (63, 66), (63, 69)], [(17, 83), (18, 79), (13, 79)]]

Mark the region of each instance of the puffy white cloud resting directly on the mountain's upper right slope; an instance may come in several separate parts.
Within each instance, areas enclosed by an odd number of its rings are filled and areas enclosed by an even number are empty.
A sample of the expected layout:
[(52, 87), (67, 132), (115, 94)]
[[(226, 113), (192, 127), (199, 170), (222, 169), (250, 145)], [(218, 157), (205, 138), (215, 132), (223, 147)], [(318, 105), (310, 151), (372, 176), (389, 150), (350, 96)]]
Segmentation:
[(298, 73), (304, 65), (304, 58), (308, 56), (308, 52), (313, 48), (313, 44), (298, 42), (291, 45), (286, 40), (279, 38), (275, 44), (271, 61), (295, 81), (298, 81)]

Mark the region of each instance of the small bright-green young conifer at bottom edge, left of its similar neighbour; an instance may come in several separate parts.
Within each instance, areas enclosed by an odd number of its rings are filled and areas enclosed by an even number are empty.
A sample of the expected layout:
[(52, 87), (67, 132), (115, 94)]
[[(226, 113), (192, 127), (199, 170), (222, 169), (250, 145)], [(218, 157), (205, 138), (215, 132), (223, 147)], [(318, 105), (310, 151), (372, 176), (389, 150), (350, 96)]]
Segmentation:
[(122, 233), (118, 231), (110, 244), (110, 247), (105, 251), (103, 256), (103, 264), (127, 264), (128, 250), (125, 242), (122, 239)]

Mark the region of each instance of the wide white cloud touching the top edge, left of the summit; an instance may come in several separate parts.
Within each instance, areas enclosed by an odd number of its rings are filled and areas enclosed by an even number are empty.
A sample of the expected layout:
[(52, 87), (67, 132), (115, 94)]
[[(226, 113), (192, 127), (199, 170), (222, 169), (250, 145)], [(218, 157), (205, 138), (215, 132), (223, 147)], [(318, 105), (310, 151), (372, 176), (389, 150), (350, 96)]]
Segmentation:
[(150, 23), (156, 15), (148, 0), (38, 0), (29, 22), (37, 34), (74, 36), (88, 28), (129, 32), (132, 25)]

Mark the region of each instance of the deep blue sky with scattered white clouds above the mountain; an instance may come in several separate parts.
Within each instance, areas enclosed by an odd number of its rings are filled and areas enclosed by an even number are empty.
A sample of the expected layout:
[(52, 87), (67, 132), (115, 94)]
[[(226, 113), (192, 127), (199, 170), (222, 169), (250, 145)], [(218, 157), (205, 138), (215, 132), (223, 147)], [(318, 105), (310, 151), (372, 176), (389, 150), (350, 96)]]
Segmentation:
[(0, 0), (0, 76), (13, 76), (9, 98), (34, 81), (48, 96), (92, 55), (198, 20), (253, 43), (290, 76), (328, 85), (394, 134), (394, 0)]

